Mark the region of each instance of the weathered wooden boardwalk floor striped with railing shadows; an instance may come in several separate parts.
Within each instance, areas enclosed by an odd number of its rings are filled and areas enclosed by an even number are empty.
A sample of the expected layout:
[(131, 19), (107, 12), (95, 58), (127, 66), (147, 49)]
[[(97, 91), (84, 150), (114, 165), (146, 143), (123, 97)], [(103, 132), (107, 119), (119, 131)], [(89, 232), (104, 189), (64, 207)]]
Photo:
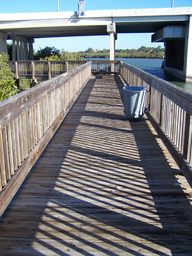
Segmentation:
[(0, 255), (192, 255), (192, 191), (153, 127), (92, 76), (0, 218)]

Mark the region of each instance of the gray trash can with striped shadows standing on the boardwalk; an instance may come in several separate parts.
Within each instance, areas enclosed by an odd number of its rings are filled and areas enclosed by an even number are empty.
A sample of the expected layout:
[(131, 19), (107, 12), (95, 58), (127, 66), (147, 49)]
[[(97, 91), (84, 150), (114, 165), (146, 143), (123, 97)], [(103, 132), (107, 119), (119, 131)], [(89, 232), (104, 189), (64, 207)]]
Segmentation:
[(138, 118), (145, 110), (145, 96), (147, 87), (124, 86), (123, 105), (126, 117)]

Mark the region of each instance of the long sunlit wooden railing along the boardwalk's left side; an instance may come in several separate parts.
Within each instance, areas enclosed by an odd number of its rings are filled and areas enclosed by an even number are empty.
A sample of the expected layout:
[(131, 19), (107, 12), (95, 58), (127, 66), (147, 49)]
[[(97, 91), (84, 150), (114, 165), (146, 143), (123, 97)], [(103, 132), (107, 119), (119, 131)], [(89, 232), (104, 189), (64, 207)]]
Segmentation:
[(0, 102), (0, 216), (90, 75), (91, 62)]

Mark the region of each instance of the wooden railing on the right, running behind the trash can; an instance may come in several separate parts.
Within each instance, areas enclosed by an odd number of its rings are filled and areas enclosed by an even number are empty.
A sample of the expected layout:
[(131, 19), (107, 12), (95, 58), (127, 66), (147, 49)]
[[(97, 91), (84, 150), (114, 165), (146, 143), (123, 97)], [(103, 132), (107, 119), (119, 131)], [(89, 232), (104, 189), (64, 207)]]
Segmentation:
[(120, 74), (131, 86), (146, 86), (147, 116), (192, 187), (192, 94), (129, 64)]

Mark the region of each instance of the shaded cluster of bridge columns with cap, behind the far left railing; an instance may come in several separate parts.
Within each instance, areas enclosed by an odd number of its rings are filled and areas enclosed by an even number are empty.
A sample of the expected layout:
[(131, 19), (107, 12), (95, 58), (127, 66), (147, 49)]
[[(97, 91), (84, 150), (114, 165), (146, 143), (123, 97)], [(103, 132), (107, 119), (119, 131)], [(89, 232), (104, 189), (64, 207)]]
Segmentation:
[(9, 39), (12, 40), (12, 60), (34, 60), (34, 51), (32, 47), (32, 43), (34, 43), (33, 38), (10, 35)]

